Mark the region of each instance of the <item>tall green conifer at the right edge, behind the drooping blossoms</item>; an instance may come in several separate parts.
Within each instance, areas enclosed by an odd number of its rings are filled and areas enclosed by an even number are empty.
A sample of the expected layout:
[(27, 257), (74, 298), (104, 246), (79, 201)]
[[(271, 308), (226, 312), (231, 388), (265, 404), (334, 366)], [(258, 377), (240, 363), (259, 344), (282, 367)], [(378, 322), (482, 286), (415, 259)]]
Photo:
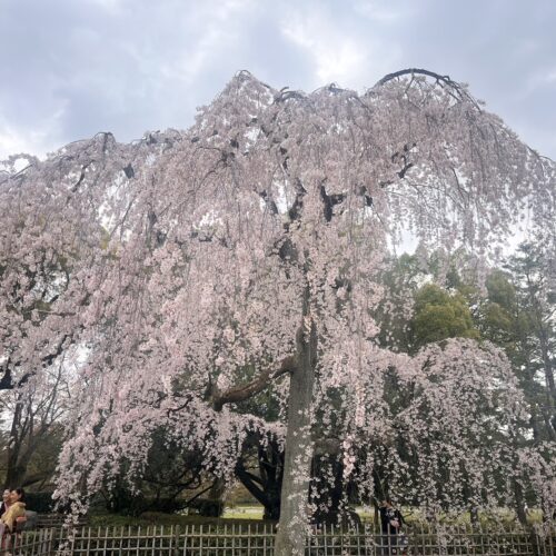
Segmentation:
[[(540, 468), (549, 468), (554, 458), (550, 446), (555, 439), (552, 385), (556, 335), (554, 268), (548, 245), (546, 241), (519, 245), (505, 269), (496, 269), (488, 276), (487, 296), (475, 301), (476, 321), (483, 336), (504, 348), (527, 401), (527, 415), (513, 436), (516, 468), (523, 469), (513, 481), (517, 514), (524, 523), (526, 502), (546, 503), (543, 498), (535, 499), (533, 494), (535, 467), (526, 463), (525, 456), (519, 461), (518, 455), (535, 450), (536, 456), (530, 459)], [(545, 480), (550, 485), (554, 477)]]

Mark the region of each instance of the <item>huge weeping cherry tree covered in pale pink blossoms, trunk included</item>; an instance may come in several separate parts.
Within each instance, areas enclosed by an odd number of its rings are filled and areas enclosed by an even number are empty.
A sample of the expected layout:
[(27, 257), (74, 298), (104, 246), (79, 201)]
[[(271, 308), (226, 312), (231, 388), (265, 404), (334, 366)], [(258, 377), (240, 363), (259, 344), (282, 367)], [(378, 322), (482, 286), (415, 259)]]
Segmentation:
[[(159, 427), (225, 477), (259, 430), (286, 456), (276, 554), (302, 554), (315, 446), (339, 435), (345, 475), (375, 480), (376, 458), (356, 448), (388, 436), (377, 391), (391, 369), (423, 394), (401, 419), (423, 477), (451, 457), (478, 485), (497, 465), (424, 435), (419, 416), (464, 438), (474, 379), (507, 376), (504, 358), (474, 340), (415, 357), (380, 348), (374, 317), (408, 234), (421, 250), (465, 246), (486, 260), (524, 211), (538, 227), (554, 215), (552, 161), (465, 86), (403, 70), (363, 95), (306, 95), (240, 72), (187, 131), (129, 145), (100, 133), (19, 172), (16, 158), (0, 178), (2, 386), (75, 358), (57, 496), (76, 512), (122, 461), (131, 483), (141, 474)], [(434, 379), (449, 373), (458, 380)], [(480, 384), (510, 427), (517, 387)], [(265, 389), (279, 419), (237, 410)], [(441, 494), (454, 505), (456, 483)]]

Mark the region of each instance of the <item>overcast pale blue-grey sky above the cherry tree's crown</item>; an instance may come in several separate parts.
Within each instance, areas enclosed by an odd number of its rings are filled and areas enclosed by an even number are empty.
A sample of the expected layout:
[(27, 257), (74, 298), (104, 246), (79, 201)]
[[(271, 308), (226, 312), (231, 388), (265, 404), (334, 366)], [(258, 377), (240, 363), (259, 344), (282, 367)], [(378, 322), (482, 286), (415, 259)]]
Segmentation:
[(0, 159), (187, 128), (248, 69), (363, 91), (426, 68), (556, 159), (556, 0), (0, 0)]

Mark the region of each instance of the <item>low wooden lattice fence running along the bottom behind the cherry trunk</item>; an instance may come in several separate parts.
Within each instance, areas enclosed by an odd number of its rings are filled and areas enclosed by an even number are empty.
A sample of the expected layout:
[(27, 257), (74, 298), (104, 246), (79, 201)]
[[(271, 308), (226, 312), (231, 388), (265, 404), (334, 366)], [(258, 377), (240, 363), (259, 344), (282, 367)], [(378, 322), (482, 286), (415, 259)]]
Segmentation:
[[(371, 525), (322, 527), (307, 538), (306, 556), (493, 555), (554, 556), (554, 525), (536, 528), (446, 526), (407, 528), (407, 544)], [(13, 538), (18, 556), (272, 556), (272, 526), (221, 524), (171, 527), (82, 527), (26, 532)]]

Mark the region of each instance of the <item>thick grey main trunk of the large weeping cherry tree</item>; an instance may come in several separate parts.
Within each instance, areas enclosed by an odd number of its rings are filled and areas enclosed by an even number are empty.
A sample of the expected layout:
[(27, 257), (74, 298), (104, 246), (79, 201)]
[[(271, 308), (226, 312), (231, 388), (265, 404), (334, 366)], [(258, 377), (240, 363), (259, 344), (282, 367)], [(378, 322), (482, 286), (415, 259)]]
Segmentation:
[(298, 340), (298, 366), (291, 373), (288, 429), (281, 488), (281, 508), (275, 556), (302, 555), (307, 535), (310, 465), (312, 459), (311, 401), (315, 381), (316, 331)]

